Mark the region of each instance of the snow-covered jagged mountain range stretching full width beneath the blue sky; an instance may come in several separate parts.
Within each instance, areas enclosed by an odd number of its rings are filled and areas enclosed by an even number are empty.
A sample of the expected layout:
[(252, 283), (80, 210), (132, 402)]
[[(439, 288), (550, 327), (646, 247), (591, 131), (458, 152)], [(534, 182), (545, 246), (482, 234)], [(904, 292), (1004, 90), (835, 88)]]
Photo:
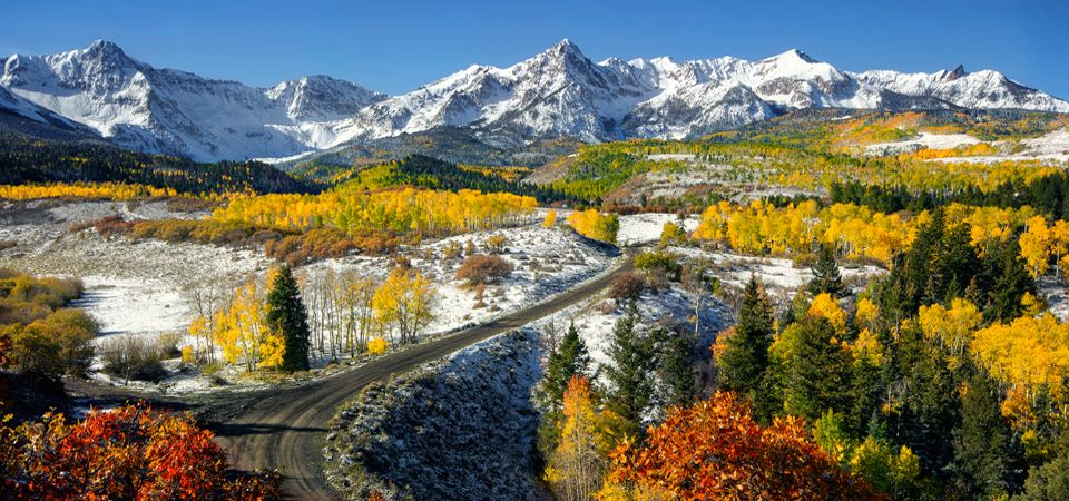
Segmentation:
[(594, 62), (567, 39), (508, 68), (471, 66), (393, 97), (326, 76), (267, 89), (212, 80), (154, 68), (108, 41), (0, 62), (0, 108), (197, 160), (287, 157), (437, 127), (516, 145), (562, 136), (677, 139), (812, 107), (1069, 112), (1069, 102), (991, 70), (853, 73), (798, 50), (759, 61)]

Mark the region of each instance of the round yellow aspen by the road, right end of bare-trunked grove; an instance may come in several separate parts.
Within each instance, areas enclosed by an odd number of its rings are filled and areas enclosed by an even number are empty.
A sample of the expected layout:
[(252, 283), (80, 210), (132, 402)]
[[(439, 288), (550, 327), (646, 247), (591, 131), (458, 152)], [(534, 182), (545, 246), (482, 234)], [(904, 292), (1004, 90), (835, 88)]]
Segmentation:
[(415, 341), (419, 332), (433, 320), (431, 305), (435, 294), (430, 282), (419, 272), (394, 268), (372, 298), (375, 321), (393, 338), (404, 345)]

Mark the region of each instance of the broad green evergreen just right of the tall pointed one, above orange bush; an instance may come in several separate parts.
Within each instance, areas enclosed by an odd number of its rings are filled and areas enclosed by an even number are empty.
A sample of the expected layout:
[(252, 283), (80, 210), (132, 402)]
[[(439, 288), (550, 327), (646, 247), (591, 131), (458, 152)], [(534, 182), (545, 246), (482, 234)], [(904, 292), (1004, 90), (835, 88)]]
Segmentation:
[(851, 355), (835, 337), (835, 327), (824, 317), (807, 316), (797, 328), (795, 353), (784, 377), (784, 409), (815, 421), (825, 411), (843, 412), (850, 402)]

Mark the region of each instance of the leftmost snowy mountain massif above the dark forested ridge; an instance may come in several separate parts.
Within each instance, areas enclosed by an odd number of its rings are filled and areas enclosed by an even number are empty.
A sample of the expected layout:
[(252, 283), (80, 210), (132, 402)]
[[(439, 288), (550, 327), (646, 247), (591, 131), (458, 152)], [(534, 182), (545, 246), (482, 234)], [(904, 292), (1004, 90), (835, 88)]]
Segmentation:
[(359, 109), (379, 98), (355, 85), (318, 77), (264, 91), (156, 69), (107, 41), (53, 56), (11, 56), (3, 60), (0, 85), (121, 146), (200, 160), (305, 150), (304, 138), (273, 126)]

